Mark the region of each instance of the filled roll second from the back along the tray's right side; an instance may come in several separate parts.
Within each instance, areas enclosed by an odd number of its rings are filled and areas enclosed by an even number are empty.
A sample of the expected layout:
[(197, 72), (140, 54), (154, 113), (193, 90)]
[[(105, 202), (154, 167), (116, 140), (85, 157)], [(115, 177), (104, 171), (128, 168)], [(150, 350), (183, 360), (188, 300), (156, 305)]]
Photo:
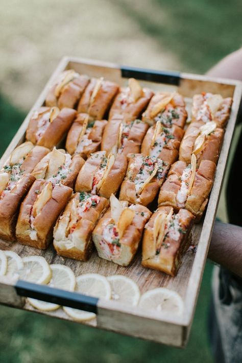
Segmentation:
[(192, 153), (197, 156), (197, 164), (202, 160), (211, 160), (215, 164), (219, 159), (224, 138), (224, 130), (217, 128), (214, 121), (204, 124), (202, 121), (192, 122), (181, 141), (179, 160), (187, 164), (191, 162)]

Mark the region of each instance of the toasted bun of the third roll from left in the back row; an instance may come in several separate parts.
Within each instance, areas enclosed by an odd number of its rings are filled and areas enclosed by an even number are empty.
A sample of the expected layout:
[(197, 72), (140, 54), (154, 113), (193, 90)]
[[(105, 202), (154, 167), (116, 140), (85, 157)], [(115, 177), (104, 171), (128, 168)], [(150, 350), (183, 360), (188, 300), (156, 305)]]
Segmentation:
[(116, 95), (112, 107), (109, 111), (109, 120), (114, 115), (123, 115), (124, 122), (130, 121), (135, 118), (139, 118), (142, 111), (147, 107), (154, 92), (151, 89), (143, 88), (143, 96), (140, 97), (136, 102), (127, 103), (124, 108), (123, 96), (129, 93), (129, 88), (121, 88), (120, 92)]

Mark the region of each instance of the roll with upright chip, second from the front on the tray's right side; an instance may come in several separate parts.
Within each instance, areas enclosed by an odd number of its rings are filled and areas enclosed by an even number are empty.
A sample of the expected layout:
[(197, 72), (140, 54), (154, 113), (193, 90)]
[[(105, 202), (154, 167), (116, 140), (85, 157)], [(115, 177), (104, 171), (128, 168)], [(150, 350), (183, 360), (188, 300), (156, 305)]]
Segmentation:
[(175, 162), (160, 189), (159, 206), (171, 206), (176, 212), (185, 208), (198, 222), (207, 205), (215, 171), (216, 165), (210, 160), (202, 160), (198, 170), (196, 159), (188, 165), (184, 161)]

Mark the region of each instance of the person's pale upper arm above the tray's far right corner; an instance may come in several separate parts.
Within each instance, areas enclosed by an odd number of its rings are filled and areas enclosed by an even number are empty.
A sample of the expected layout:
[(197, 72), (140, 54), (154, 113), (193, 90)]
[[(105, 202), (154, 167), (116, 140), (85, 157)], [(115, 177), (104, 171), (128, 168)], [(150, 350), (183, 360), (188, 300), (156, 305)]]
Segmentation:
[(206, 75), (242, 81), (242, 48), (223, 58)]

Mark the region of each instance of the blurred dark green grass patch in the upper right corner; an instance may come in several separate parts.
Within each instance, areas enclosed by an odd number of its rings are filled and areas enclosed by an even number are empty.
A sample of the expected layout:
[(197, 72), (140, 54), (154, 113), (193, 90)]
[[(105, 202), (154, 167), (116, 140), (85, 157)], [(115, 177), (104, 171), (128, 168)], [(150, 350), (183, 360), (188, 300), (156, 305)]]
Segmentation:
[(149, 6), (125, 0), (118, 4), (157, 47), (179, 57), (180, 70), (206, 72), (241, 46), (240, 0), (151, 0)]

